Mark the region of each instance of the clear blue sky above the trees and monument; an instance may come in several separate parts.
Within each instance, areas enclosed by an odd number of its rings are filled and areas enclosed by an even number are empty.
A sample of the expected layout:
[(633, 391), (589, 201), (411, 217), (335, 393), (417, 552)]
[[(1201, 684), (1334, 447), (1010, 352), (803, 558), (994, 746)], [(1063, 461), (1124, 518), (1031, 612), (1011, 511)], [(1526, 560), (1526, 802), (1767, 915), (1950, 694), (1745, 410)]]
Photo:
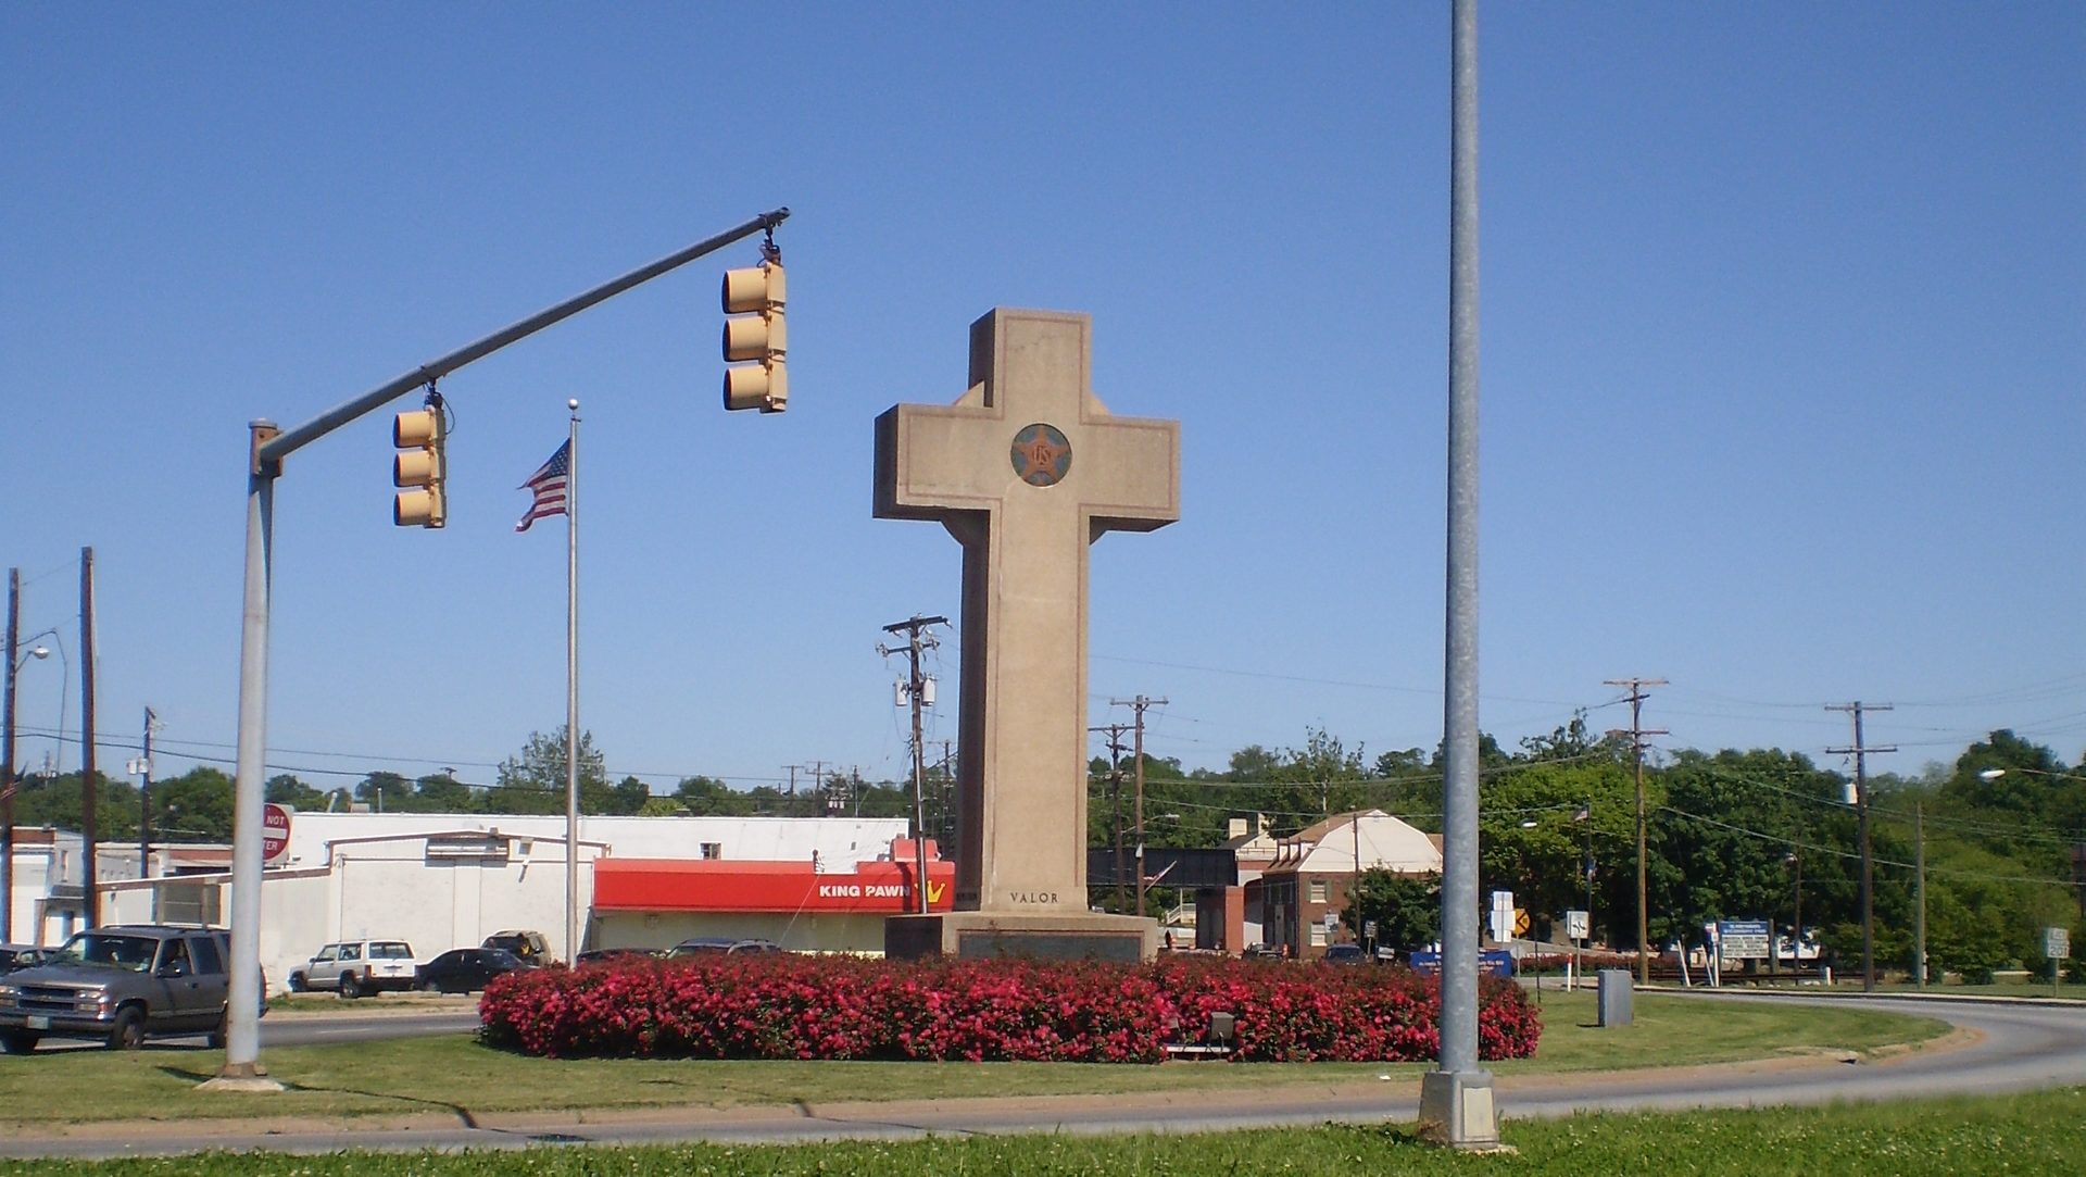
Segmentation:
[[(1481, 79), (1485, 730), (1635, 674), (1660, 747), (1838, 766), (1865, 699), (1871, 768), (2078, 760), (2080, 8), (1489, 4)], [(273, 764), (490, 780), (563, 722), (563, 528), (513, 522), (578, 397), (609, 772), (901, 776), (874, 647), (957, 547), (870, 518), (870, 424), (995, 305), (1091, 313), (1095, 392), (1183, 428), (1181, 522), (1095, 549), (1089, 722), (1439, 741), (1446, 4), (10, 4), (0, 102), (0, 563), (75, 649), (94, 547), (100, 724), (156, 707), (163, 774), (234, 741), (248, 419), (778, 205), (786, 415), (718, 407), (749, 242), (444, 380), (446, 530), (390, 524), (388, 411), (290, 459)]]

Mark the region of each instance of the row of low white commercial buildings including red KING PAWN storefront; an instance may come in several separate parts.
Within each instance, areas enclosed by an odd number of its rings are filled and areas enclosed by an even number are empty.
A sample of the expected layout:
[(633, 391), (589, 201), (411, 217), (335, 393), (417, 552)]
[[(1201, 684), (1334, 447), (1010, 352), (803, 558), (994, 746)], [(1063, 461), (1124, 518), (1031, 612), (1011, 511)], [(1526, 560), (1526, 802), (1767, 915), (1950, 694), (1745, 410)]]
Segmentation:
[[(65, 839), (60, 833), (60, 845), (17, 858), (17, 939), (56, 943), (77, 927), (52, 916), (79, 883), (46, 868), (56, 866)], [(907, 910), (912, 895), (899, 879), (912, 874), (903, 839), (903, 818), (580, 818), (580, 950), (757, 935), (793, 950), (880, 952), (882, 916)], [(96, 872), (104, 924), (225, 922), (227, 870), (138, 879), (129, 849), (117, 868), (125, 879), (111, 879), (106, 866)], [(184, 862), (198, 870), (209, 849), (192, 849), (200, 854)], [(899, 862), (891, 862), (895, 849)], [(100, 847), (102, 856), (113, 851), (121, 847)], [(613, 910), (595, 906), (597, 862), (613, 862), (624, 879)], [(939, 883), (945, 868), (930, 864), (930, 879)], [(935, 904), (945, 906), (937, 891), (930, 885)], [(540, 931), (551, 956), (574, 954), (563, 943), (563, 816), (298, 812), (261, 889), (261, 964), (273, 989), (332, 941), (405, 939), (428, 960), (509, 929)]]

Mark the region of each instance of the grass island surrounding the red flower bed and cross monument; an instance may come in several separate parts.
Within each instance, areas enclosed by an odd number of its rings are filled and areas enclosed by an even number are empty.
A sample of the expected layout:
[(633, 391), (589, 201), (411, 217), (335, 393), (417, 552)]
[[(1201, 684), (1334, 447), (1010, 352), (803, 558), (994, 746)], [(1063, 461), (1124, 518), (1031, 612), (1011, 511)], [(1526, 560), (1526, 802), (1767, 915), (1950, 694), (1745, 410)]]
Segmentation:
[[(1711, 1004), (1640, 993), (1635, 1025), (1594, 1027), (1592, 993), (1546, 993), (1535, 1058), (1498, 1062), (1502, 1075), (1733, 1062), (1777, 1054), (1875, 1052), (1946, 1033), (1944, 1023), (1794, 1004)], [(461, 1119), (574, 1108), (755, 1106), (1237, 1089), (1295, 1083), (1418, 1079), (1431, 1064), (1310, 1062), (1162, 1066), (1070, 1062), (690, 1062), (636, 1058), (547, 1060), (480, 1046), (465, 1035), (263, 1052), (290, 1089), (221, 1094), (196, 1085), (217, 1073), (213, 1050), (69, 1050), (0, 1056), (0, 1135), (83, 1121), (244, 1116)]]

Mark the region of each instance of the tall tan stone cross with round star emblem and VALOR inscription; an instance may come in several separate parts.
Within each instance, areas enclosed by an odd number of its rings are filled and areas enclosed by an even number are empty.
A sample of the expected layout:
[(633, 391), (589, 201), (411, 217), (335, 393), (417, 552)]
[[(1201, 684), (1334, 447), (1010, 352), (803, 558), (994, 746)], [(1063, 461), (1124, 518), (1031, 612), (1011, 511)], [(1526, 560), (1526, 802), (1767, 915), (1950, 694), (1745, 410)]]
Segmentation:
[(1151, 920), (1087, 910), (1087, 545), (1181, 518), (1181, 426), (1114, 417), (1093, 319), (995, 309), (955, 405), (876, 417), (876, 518), (964, 545), (955, 912), (893, 956), (1149, 956)]

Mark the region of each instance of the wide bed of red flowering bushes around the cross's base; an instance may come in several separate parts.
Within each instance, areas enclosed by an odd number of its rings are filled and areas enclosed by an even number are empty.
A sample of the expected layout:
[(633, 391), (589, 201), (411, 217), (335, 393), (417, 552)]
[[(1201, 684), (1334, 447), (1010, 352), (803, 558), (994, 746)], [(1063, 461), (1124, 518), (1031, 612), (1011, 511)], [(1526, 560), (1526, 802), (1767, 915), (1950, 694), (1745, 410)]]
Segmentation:
[[(553, 1058), (1160, 1062), (1222, 1010), (1237, 1060), (1416, 1062), (1439, 1054), (1439, 1008), (1404, 968), (757, 954), (509, 972), (478, 1014), (486, 1041)], [(1517, 985), (1481, 983), (1481, 1058), (1539, 1035)]]

